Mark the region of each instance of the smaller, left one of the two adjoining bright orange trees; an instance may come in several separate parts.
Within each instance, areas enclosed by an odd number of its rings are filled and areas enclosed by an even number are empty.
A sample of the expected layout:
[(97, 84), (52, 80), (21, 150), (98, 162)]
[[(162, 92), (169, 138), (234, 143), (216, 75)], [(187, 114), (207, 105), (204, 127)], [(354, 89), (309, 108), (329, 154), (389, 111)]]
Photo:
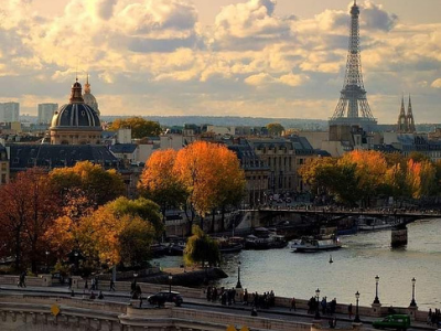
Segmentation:
[(141, 195), (161, 206), (163, 220), (168, 209), (185, 203), (185, 188), (174, 171), (176, 154), (178, 152), (172, 149), (153, 152), (146, 163), (138, 184)]

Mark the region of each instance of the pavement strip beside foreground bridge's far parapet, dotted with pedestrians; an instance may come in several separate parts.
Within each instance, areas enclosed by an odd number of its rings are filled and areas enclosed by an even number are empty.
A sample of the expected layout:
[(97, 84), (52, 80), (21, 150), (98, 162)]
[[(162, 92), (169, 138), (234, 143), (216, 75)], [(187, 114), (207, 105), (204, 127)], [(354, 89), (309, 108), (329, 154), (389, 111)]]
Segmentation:
[[(99, 293), (99, 289), (95, 290), (94, 292), (96, 295)], [(61, 296), (71, 296), (72, 290), (67, 288), (67, 286), (60, 286), (60, 287), (25, 287), (25, 288), (19, 288), (17, 286), (12, 285), (2, 285), (0, 286), (0, 295), (1, 293), (8, 293), (8, 292), (22, 292), (22, 293), (33, 293), (33, 292), (39, 292), (39, 293), (45, 293), (47, 296), (51, 295), (61, 295)], [(75, 297), (80, 297), (83, 296), (84, 290), (75, 290)], [(88, 296), (90, 293), (90, 289), (85, 291), (85, 295)], [(103, 295), (105, 300), (109, 298), (117, 298), (120, 299), (118, 300), (119, 302), (126, 302), (128, 303), (131, 296), (129, 292), (123, 292), (123, 291), (108, 291), (108, 290), (103, 290)], [(153, 295), (153, 292), (144, 292), (143, 297), (148, 297), (149, 295)], [(98, 299), (96, 299), (98, 300)], [(184, 305), (185, 302), (191, 303), (191, 305), (197, 305), (202, 307), (216, 307), (216, 308), (223, 308), (226, 310), (240, 310), (240, 311), (251, 311), (251, 306), (245, 306), (241, 302), (237, 302), (236, 305), (232, 306), (223, 306), (219, 302), (208, 302), (206, 299), (195, 299), (195, 298), (184, 298)], [(147, 303), (147, 302), (146, 302)], [(280, 316), (292, 316), (292, 317), (299, 317), (303, 319), (311, 319), (311, 321), (314, 319), (314, 314), (309, 314), (306, 310), (304, 309), (297, 309), (295, 311), (290, 311), (289, 308), (284, 307), (272, 307), (270, 309), (258, 309), (259, 312), (261, 313), (273, 313), (273, 314), (280, 314)], [(322, 316), (321, 318), (323, 320), (323, 325), (326, 328), (327, 327), (327, 320), (336, 318), (338, 322), (344, 322), (346, 323), (352, 323), (353, 320), (348, 318), (347, 314), (344, 313), (334, 313), (333, 316), (325, 314)], [(353, 316), (354, 317), (354, 316)], [(378, 320), (380, 318), (374, 318), (374, 317), (365, 317), (361, 316), (359, 317), (362, 322), (365, 325), (370, 325), (373, 321)], [(337, 323), (338, 325), (340, 323)], [(412, 329), (419, 329), (419, 330), (435, 330), (437, 328), (430, 327), (427, 323), (423, 322), (417, 322), (412, 321), (411, 324)], [(338, 329), (338, 328), (337, 328)]]

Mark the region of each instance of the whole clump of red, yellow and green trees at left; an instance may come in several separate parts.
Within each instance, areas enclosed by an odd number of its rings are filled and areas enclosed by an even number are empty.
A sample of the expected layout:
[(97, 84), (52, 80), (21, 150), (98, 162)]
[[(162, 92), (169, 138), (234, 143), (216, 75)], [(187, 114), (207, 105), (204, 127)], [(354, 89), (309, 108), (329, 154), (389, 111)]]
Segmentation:
[(144, 265), (150, 243), (163, 232), (159, 206), (118, 199), (123, 188), (114, 170), (89, 162), (49, 174), (20, 172), (0, 186), (0, 258), (13, 259), (15, 271), (33, 273), (49, 257), (66, 260), (74, 252), (90, 268)]

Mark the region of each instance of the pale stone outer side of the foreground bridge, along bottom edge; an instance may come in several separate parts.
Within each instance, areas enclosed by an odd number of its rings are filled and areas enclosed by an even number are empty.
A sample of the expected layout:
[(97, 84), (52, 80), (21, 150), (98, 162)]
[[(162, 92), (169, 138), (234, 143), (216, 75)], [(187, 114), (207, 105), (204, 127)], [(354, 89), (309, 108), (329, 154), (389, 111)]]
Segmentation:
[[(53, 313), (51, 308), (60, 309)], [(34, 296), (0, 297), (2, 331), (223, 331), (227, 325), (251, 330), (311, 331), (311, 323), (245, 317), (200, 309), (138, 309), (118, 302), (97, 302), (74, 298)]]

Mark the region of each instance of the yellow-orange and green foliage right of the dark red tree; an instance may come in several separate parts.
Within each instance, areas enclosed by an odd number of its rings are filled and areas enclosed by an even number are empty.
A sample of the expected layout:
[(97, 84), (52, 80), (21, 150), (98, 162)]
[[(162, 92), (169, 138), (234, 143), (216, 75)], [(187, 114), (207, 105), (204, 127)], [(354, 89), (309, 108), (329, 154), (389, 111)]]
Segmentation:
[(79, 218), (60, 217), (50, 235), (64, 250), (82, 252), (92, 267), (99, 264), (142, 265), (150, 244), (163, 232), (159, 206), (143, 197), (119, 197)]

